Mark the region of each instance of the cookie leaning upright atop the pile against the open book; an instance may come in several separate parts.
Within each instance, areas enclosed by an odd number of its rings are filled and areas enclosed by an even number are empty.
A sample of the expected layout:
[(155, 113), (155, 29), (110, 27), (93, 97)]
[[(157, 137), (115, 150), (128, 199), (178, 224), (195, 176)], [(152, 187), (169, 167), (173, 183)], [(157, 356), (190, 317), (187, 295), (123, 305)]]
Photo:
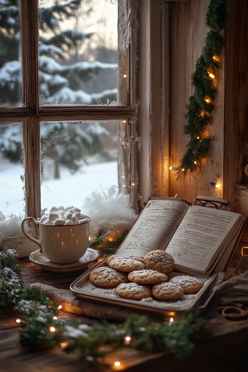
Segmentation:
[(174, 270), (174, 258), (171, 254), (157, 249), (147, 253), (144, 257), (146, 269), (157, 270), (160, 273), (168, 274)]

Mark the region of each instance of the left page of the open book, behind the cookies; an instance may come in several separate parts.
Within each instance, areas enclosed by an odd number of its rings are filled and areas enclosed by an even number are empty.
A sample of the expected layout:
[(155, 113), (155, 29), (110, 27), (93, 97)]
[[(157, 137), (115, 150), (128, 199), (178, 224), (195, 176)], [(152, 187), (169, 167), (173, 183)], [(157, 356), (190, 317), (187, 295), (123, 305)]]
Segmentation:
[(116, 254), (145, 256), (165, 249), (189, 206), (175, 200), (148, 201)]

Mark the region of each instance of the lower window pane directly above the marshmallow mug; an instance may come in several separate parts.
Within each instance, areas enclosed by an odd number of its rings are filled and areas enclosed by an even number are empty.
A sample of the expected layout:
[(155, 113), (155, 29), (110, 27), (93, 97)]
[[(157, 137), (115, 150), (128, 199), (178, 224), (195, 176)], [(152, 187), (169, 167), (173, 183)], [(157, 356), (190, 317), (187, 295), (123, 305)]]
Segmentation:
[(119, 121), (41, 123), (41, 209), (118, 186)]

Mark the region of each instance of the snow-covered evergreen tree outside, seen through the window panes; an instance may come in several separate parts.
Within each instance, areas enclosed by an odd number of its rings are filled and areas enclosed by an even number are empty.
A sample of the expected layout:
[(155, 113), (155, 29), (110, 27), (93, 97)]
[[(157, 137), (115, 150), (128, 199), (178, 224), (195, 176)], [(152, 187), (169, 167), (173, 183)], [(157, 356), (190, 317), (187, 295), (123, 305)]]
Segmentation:
[[(13, 105), (21, 101), (21, 64), (19, 61), (20, 22), (17, 0), (0, 0), (0, 105)], [(39, 89), (42, 104), (85, 104), (102, 105), (116, 102), (117, 89), (86, 93), (81, 87), (101, 71), (115, 71), (117, 64), (100, 61), (77, 61), (62, 64), (68, 52), (78, 60), (78, 50), (93, 33), (80, 29), (61, 31), (61, 22), (72, 19), (79, 9), (81, 0), (72, 0), (54, 6), (39, 8), (40, 30), (49, 38), (39, 38)], [(90, 7), (86, 10), (90, 14)], [(51, 36), (50, 36), (51, 35)], [(90, 130), (89, 128), (94, 130)], [(75, 171), (80, 160), (84, 160), (83, 148), (91, 153), (102, 151), (100, 135), (108, 134), (100, 124), (76, 125), (70, 123), (49, 123), (42, 125), (41, 156), (56, 158), (56, 161)], [(69, 131), (70, 128), (70, 131)], [(96, 131), (97, 128), (97, 131)], [(19, 129), (21, 131), (21, 129)], [(54, 131), (54, 134), (53, 134)], [(20, 159), (21, 141), (18, 128), (1, 129), (0, 151), (12, 161)], [(56, 137), (56, 143), (52, 141)], [(68, 142), (70, 141), (70, 142)], [(56, 149), (56, 150), (55, 150)], [(58, 176), (58, 173), (57, 173)]]

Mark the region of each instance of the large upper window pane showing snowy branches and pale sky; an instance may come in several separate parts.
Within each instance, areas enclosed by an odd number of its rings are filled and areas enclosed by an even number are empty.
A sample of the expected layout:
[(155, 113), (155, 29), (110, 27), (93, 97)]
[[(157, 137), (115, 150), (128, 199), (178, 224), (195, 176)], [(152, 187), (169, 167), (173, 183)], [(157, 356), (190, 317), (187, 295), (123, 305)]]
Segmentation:
[(118, 1), (39, 1), (42, 105), (116, 105)]

